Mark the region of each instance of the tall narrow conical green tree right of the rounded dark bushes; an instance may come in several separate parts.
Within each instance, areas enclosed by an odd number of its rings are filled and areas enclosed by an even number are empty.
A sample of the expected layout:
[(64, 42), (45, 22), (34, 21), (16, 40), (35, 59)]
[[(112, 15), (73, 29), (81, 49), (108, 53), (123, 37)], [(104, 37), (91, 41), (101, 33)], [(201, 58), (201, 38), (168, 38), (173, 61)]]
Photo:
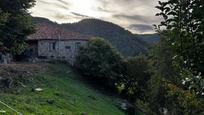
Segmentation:
[(148, 81), (148, 99), (151, 110), (157, 114), (162, 114), (161, 108), (166, 107), (165, 80), (177, 83), (177, 72), (172, 65), (173, 52), (164, 36), (160, 42), (149, 52), (149, 64), (151, 77)]

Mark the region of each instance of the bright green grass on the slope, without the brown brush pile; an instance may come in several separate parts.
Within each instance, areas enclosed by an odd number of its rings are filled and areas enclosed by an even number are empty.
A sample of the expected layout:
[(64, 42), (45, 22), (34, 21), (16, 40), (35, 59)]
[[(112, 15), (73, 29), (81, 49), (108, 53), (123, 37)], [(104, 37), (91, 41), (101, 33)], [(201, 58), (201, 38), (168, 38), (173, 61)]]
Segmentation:
[[(80, 115), (82, 112), (88, 115), (124, 115), (115, 106), (114, 97), (85, 84), (66, 65), (49, 64), (49, 69), (35, 75), (33, 81), (21, 88), (18, 94), (0, 93), (0, 100), (26, 115)], [(43, 91), (32, 92), (32, 87), (40, 87)], [(48, 99), (53, 99), (54, 103), (48, 104)], [(2, 105), (0, 109), (6, 114), (14, 114)]]

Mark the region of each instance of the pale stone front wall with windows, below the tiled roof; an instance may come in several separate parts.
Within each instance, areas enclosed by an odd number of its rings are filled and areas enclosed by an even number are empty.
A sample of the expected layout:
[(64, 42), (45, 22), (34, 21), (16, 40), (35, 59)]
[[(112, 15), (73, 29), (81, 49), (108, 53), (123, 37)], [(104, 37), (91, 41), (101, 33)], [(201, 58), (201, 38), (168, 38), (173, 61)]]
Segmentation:
[(68, 61), (73, 65), (79, 47), (86, 43), (86, 40), (41, 40), (38, 41), (38, 56), (47, 59)]

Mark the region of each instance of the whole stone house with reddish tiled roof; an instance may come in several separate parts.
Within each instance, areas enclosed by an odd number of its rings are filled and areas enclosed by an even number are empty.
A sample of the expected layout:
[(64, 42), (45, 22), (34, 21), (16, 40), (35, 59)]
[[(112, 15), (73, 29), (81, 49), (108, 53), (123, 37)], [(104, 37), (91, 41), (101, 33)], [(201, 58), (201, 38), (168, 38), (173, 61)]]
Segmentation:
[(27, 39), (32, 58), (63, 60), (73, 65), (80, 46), (91, 38), (49, 24), (38, 24), (37, 28)]

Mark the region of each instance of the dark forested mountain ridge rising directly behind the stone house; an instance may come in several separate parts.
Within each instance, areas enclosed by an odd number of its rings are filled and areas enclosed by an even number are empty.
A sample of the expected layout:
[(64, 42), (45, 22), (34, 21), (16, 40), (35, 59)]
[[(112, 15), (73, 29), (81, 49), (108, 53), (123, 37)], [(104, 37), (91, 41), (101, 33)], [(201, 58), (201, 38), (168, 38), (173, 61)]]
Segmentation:
[[(44, 18), (33, 18), (35, 23), (47, 23), (55, 25)], [(73, 32), (85, 35), (93, 35), (108, 40), (125, 56), (134, 56), (140, 52), (146, 51), (146, 43), (138, 39), (134, 34), (124, 28), (98, 19), (84, 19), (77, 23), (57, 24), (58, 26)]]

